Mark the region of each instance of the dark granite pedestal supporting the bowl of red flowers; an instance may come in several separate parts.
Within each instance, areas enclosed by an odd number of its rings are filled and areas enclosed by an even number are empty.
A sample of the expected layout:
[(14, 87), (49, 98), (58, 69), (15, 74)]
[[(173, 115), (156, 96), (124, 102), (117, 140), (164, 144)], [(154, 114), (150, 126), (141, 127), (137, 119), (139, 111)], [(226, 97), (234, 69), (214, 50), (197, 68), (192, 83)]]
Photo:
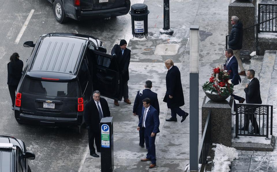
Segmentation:
[(208, 112), (211, 109), (212, 143), (221, 143), (231, 146), (233, 136), (233, 115), (231, 114), (234, 98), (228, 97), (222, 102), (214, 102), (207, 96), (202, 105), (202, 135), (205, 128)]

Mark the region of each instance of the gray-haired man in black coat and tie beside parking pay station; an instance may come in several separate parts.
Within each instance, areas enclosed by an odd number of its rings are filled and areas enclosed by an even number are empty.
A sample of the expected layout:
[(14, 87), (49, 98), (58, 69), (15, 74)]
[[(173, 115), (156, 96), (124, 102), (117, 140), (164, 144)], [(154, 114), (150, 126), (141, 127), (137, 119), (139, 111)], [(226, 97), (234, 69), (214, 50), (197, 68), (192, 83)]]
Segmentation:
[(94, 148), (94, 139), (97, 152), (100, 152), (101, 148), (101, 133), (99, 123), (102, 118), (111, 116), (111, 112), (108, 106), (108, 102), (100, 97), (100, 91), (96, 90), (93, 92), (93, 99), (90, 100), (84, 111), (84, 119), (88, 128), (89, 137), (89, 152), (93, 157), (99, 157), (96, 154)]

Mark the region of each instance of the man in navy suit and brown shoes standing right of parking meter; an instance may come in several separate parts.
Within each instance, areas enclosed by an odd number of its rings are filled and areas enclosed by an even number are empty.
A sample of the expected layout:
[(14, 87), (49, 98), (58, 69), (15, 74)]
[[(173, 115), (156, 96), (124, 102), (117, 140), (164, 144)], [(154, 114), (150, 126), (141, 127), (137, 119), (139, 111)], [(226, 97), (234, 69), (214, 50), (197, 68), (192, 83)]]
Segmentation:
[(150, 99), (143, 99), (143, 108), (141, 118), (139, 120), (139, 126), (137, 130), (144, 130), (145, 145), (147, 148), (146, 158), (141, 159), (141, 161), (151, 161), (149, 168), (154, 168), (156, 166), (156, 147), (155, 139), (156, 134), (160, 132), (159, 125), (159, 115), (158, 111), (150, 105)]

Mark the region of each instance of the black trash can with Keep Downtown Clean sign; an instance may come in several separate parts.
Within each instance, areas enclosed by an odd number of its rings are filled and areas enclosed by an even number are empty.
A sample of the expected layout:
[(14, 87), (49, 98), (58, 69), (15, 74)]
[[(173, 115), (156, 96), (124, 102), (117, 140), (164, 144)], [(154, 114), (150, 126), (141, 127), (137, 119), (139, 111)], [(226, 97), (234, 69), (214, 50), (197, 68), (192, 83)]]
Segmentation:
[(132, 18), (132, 35), (142, 38), (148, 35), (148, 14), (147, 5), (143, 3), (136, 3), (131, 6), (129, 12)]

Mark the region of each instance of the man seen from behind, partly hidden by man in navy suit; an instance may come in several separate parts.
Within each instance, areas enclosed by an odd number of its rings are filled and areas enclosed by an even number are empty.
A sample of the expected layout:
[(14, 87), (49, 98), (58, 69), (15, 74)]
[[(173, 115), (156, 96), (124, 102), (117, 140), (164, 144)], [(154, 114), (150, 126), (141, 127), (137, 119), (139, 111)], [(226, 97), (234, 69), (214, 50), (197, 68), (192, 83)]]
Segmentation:
[[(138, 116), (139, 119), (141, 118), (142, 114), (142, 108), (143, 108), (143, 103), (142, 100), (145, 98), (150, 99), (150, 105), (152, 105), (157, 111), (158, 115), (160, 114), (160, 106), (159, 106), (159, 101), (158, 101), (158, 95), (157, 93), (151, 91), (152, 88), (152, 82), (150, 80), (147, 80), (144, 85), (145, 89), (138, 91), (136, 94), (136, 99), (134, 101), (134, 107), (133, 107), (133, 115)], [(139, 145), (141, 148), (144, 147), (144, 132), (143, 130), (139, 131)]]

